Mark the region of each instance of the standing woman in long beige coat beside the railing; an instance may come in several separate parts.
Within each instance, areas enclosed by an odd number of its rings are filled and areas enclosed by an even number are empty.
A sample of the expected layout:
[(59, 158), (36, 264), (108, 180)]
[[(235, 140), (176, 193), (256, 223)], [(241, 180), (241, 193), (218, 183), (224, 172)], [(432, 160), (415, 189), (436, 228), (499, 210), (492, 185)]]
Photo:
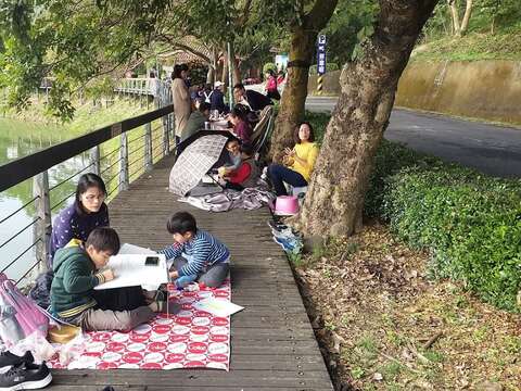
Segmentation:
[(181, 138), (191, 112), (190, 93), (186, 84), (188, 65), (176, 64), (171, 74), (171, 97), (174, 100), (174, 116), (176, 117), (176, 144)]

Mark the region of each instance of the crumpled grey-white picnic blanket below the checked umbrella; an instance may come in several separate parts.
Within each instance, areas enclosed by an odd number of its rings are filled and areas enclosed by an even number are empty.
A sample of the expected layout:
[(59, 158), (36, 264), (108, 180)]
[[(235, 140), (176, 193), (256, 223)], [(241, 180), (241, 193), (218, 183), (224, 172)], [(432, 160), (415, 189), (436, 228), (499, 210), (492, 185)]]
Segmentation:
[(203, 197), (185, 197), (180, 202), (187, 202), (195, 207), (209, 212), (227, 212), (232, 209), (255, 210), (272, 203), (276, 195), (263, 188), (246, 188), (243, 191), (225, 189), (223, 192)]

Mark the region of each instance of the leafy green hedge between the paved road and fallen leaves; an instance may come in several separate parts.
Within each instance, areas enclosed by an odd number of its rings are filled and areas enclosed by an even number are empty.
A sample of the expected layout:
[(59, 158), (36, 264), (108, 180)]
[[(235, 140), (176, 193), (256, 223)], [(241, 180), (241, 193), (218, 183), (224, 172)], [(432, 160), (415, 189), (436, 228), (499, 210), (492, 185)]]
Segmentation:
[(411, 247), (429, 249), (430, 272), (499, 308), (520, 312), (521, 181), (488, 177), (384, 141), (366, 214)]

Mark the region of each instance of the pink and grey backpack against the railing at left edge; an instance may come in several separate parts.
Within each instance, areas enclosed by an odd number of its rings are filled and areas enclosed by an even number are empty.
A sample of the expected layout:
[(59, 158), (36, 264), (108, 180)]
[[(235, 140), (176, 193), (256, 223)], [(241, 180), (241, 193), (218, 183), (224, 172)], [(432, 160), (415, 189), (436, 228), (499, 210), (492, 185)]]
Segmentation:
[(0, 338), (12, 345), (31, 333), (46, 338), (49, 318), (13, 280), (0, 273)]

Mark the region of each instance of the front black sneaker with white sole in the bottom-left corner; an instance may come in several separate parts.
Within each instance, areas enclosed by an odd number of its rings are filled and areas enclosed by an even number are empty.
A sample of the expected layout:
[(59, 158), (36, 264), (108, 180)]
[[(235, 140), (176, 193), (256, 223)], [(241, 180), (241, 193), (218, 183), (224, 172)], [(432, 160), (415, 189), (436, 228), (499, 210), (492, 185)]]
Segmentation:
[(0, 375), (0, 391), (37, 390), (48, 386), (52, 375), (46, 363), (23, 363)]

